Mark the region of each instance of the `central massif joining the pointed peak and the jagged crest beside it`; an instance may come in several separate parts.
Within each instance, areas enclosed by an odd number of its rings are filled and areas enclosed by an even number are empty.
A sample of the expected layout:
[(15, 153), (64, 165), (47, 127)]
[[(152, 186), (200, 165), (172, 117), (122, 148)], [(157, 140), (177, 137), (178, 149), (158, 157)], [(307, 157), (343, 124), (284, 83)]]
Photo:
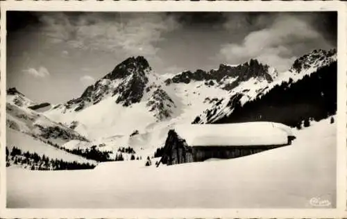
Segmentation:
[(80, 97), (56, 105), (45, 115), (92, 139), (134, 130), (144, 133), (158, 123), (190, 122), (210, 105), (209, 99), (247, 87), (244, 83), (249, 80), (267, 84), (276, 74), (268, 65), (250, 60), (235, 67), (221, 64), (219, 69), (184, 71), (166, 78), (154, 73), (143, 57), (132, 57), (87, 87)]

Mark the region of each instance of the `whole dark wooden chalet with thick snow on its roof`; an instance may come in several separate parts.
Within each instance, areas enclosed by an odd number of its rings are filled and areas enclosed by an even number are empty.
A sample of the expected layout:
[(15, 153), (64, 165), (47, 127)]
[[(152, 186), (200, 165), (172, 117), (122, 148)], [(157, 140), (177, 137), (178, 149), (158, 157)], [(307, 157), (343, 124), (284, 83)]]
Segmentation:
[(294, 139), (291, 128), (279, 123), (183, 125), (169, 130), (157, 166), (243, 157), (288, 146)]

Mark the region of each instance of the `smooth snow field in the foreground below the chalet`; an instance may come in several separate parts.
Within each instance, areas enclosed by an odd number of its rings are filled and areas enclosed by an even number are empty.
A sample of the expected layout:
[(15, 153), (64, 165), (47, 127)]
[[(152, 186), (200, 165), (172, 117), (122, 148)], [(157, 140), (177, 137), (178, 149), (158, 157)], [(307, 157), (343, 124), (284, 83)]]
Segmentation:
[(294, 131), (291, 146), (228, 160), (94, 170), (7, 169), (9, 208), (311, 208), (336, 202), (336, 124)]

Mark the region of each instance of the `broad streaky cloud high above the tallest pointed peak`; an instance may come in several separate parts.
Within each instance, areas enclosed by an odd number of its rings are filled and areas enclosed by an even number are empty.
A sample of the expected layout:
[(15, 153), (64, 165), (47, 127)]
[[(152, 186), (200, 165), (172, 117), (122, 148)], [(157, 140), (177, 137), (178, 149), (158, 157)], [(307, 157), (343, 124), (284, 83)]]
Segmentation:
[[(119, 19), (119, 16), (124, 18)], [(69, 17), (60, 13), (42, 15), (41, 20), (42, 33), (53, 43), (124, 56), (155, 55), (158, 51), (155, 43), (162, 40), (162, 34), (179, 27), (174, 17), (162, 13), (118, 13), (113, 17), (96, 13)]]

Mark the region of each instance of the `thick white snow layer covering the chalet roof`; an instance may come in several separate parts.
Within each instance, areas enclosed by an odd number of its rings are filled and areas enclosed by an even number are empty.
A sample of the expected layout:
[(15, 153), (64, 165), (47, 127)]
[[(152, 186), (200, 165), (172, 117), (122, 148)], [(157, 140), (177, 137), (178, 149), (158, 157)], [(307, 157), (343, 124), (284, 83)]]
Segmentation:
[(281, 145), (293, 135), (287, 125), (271, 122), (176, 125), (188, 146)]

